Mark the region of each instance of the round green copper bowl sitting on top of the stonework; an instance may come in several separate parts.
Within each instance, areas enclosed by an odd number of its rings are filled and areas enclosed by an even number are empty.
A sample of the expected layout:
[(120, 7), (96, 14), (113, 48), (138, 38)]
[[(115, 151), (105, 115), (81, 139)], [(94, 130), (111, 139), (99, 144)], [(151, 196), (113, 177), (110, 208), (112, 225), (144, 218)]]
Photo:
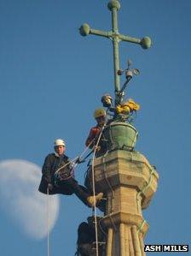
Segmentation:
[(130, 123), (112, 122), (103, 131), (107, 149), (131, 151), (136, 146), (137, 131)]

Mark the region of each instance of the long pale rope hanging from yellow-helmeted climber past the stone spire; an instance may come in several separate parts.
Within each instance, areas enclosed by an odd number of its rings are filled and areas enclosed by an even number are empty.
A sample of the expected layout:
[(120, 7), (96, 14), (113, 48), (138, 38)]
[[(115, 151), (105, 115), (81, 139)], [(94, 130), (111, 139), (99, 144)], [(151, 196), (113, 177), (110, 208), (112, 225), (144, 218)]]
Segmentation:
[(100, 142), (100, 139), (101, 139), (101, 134), (102, 134), (102, 131), (103, 129), (105, 128), (105, 126), (103, 126), (101, 128), (101, 132), (99, 134), (99, 137), (98, 137), (98, 140), (96, 142), (96, 146), (95, 146), (95, 149), (94, 149), (94, 153), (93, 153), (93, 159), (92, 159), (92, 167), (91, 167), (91, 170), (92, 170), (92, 187), (93, 187), (93, 196), (94, 196), (94, 219), (95, 219), (95, 232), (96, 232), (96, 256), (99, 256), (99, 251), (98, 251), (98, 235), (97, 235), (97, 214), (96, 214), (96, 188), (95, 188), (95, 171), (94, 171), (94, 161), (95, 161), (95, 156), (96, 156), (96, 149), (97, 149), (97, 146)]

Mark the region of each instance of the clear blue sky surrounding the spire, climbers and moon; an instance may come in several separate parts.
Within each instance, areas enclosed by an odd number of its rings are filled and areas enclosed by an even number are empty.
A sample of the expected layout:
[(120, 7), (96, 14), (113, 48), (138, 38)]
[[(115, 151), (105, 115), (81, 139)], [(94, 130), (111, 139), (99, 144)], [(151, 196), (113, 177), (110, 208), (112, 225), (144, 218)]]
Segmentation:
[[(153, 40), (148, 51), (120, 43), (121, 68), (130, 58), (141, 71), (130, 82), (127, 95), (141, 104), (135, 121), (136, 150), (159, 172), (159, 189), (143, 211), (150, 224), (146, 242), (187, 244), (191, 237), (191, 3), (120, 3), (119, 31)], [(0, 0), (0, 161), (25, 159), (41, 166), (60, 137), (67, 141), (70, 158), (84, 150), (95, 123), (93, 110), (101, 105), (102, 94), (113, 94), (112, 44), (95, 36), (81, 37), (78, 27), (84, 22), (111, 30), (107, 1)], [(85, 170), (82, 164), (76, 171), (80, 183)], [(0, 211), (3, 256), (46, 255), (45, 239), (28, 237), (3, 208)], [(50, 237), (52, 255), (75, 253), (78, 224), (90, 214), (74, 195), (61, 197)]]

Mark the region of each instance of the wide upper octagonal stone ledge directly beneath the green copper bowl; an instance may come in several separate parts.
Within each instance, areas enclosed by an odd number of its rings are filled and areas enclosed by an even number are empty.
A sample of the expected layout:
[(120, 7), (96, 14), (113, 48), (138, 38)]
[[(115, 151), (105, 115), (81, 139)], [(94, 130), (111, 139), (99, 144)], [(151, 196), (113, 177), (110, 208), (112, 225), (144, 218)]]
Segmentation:
[(95, 159), (96, 190), (107, 193), (119, 186), (136, 188), (147, 208), (158, 187), (159, 175), (140, 152), (113, 151)]

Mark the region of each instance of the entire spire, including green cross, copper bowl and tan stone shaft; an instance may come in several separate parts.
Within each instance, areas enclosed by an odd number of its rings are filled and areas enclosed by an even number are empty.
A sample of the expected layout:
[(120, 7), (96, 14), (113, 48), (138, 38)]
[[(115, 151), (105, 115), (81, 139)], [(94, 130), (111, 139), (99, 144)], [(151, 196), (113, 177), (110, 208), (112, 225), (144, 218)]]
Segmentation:
[[(116, 106), (121, 100), (119, 42), (136, 43), (148, 49), (151, 40), (119, 33), (119, 1), (112, 0), (107, 7), (112, 12), (111, 32), (96, 30), (84, 23), (80, 33), (83, 36), (95, 34), (113, 41)], [(96, 193), (104, 192), (107, 198), (104, 217), (100, 221), (107, 233), (106, 251), (99, 256), (144, 256), (143, 238), (148, 231), (148, 223), (142, 217), (142, 209), (148, 207), (156, 192), (159, 175), (147, 158), (135, 151), (137, 131), (130, 123), (114, 120), (107, 124), (103, 136), (107, 141), (107, 152), (94, 161)]]

